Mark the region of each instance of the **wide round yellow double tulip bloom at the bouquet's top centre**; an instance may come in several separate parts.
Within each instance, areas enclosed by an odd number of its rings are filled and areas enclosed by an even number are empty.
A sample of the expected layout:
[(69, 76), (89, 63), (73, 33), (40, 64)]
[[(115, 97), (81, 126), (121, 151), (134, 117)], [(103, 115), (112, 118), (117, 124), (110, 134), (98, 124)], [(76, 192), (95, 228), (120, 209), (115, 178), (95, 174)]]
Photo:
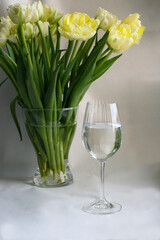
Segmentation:
[(59, 32), (70, 40), (88, 40), (96, 34), (100, 21), (84, 13), (65, 15), (59, 21)]

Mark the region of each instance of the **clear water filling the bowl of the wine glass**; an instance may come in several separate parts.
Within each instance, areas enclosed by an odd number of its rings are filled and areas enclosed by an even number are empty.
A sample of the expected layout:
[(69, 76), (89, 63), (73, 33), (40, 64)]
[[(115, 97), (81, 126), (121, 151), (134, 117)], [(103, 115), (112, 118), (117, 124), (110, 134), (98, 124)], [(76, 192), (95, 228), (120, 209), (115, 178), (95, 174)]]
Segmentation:
[(107, 122), (85, 123), (82, 139), (91, 156), (104, 161), (120, 148), (121, 125)]

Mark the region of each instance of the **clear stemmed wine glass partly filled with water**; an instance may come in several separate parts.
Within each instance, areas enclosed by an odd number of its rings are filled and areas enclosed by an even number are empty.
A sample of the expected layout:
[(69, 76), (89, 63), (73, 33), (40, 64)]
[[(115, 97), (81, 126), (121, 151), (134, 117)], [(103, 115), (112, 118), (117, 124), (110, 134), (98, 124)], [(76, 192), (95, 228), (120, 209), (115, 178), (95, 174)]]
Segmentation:
[(118, 203), (110, 203), (104, 196), (104, 169), (106, 160), (121, 145), (121, 122), (116, 103), (91, 101), (86, 105), (82, 141), (90, 155), (100, 164), (101, 194), (100, 197), (82, 208), (92, 214), (109, 214), (121, 210)]

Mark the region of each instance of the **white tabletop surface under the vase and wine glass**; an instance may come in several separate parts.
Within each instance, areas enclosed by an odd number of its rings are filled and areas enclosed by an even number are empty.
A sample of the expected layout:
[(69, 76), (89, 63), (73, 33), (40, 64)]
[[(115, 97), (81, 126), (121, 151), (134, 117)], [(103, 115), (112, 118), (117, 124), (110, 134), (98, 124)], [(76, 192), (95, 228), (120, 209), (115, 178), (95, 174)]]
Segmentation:
[(158, 240), (160, 164), (106, 179), (108, 200), (122, 210), (91, 215), (83, 204), (98, 194), (97, 176), (74, 170), (74, 183), (38, 188), (21, 180), (0, 180), (0, 240)]

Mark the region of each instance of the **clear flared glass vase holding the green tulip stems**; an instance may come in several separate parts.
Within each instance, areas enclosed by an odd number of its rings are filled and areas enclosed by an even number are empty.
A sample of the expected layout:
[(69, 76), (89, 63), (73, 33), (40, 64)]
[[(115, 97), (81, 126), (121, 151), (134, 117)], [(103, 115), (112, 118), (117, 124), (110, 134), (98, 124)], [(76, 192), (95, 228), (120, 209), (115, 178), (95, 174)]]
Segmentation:
[(69, 151), (77, 125), (77, 109), (23, 109), (38, 162), (34, 185), (60, 187), (73, 182)]

